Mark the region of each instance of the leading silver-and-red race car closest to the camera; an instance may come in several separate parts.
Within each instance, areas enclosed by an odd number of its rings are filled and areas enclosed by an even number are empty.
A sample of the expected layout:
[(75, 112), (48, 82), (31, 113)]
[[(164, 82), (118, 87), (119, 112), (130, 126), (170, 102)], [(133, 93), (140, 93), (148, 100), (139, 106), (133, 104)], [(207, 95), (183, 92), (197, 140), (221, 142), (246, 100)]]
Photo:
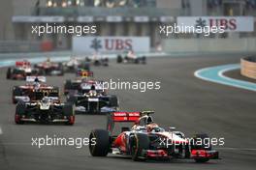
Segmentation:
[[(109, 153), (131, 156), (133, 160), (192, 158), (196, 162), (217, 159), (218, 152), (210, 145), (197, 142), (208, 138), (198, 134), (193, 140), (184, 133), (158, 127), (149, 116), (151, 112), (113, 112), (108, 115), (107, 129), (93, 129), (90, 133), (91, 156), (107, 156)], [(114, 124), (134, 123), (132, 128), (121, 128), (114, 134)]]

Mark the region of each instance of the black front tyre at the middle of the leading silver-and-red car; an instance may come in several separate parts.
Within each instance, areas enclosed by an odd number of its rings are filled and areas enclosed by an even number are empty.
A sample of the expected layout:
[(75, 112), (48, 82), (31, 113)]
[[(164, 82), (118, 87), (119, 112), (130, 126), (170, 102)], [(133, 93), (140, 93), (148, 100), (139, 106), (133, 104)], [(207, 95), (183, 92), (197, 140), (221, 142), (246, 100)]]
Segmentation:
[(146, 159), (144, 151), (149, 149), (149, 138), (146, 134), (137, 133), (131, 140), (131, 155), (134, 161), (142, 161)]

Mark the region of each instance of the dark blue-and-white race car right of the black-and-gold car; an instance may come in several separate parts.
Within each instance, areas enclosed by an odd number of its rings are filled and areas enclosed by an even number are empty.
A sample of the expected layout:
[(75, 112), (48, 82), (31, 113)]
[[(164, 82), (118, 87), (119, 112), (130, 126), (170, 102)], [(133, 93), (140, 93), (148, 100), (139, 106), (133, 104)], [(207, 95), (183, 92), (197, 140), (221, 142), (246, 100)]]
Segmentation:
[[(76, 105), (77, 113), (106, 114), (118, 109), (118, 99), (114, 95), (106, 95), (97, 85), (90, 85), (90, 90), (83, 89), (67, 97), (67, 101)], [(86, 93), (83, 93), (86, 92)]]

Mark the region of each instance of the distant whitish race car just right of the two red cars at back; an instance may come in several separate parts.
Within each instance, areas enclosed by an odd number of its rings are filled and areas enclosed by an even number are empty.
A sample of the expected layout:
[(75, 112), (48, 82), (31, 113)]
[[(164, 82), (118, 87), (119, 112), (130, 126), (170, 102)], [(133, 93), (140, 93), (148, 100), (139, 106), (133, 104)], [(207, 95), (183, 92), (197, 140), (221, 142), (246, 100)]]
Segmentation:
[(85, 60), (79, 60), (76, 57), (72, 57), (69, 61), (64, 62), (63, 67), (65, 72), (90, 71), (90, 63)]

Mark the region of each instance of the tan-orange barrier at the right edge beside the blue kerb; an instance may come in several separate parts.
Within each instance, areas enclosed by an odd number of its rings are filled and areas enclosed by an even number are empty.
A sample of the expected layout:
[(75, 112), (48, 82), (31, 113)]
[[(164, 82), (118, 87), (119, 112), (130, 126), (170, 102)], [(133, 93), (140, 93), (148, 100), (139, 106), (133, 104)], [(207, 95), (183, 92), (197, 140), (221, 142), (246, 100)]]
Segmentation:
[(256, 57), (244, 57), (240, 59), (240, 74), (256, 79)]

